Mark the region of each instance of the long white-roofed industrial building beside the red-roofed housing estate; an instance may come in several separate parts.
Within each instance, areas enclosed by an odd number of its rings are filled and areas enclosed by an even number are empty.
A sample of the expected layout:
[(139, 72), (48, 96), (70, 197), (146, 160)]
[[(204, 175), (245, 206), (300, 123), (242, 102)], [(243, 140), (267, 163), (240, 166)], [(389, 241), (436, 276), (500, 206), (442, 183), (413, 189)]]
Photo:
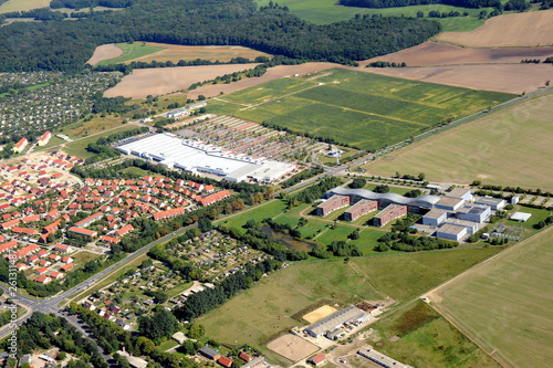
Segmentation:
[(295, 169), (295, 165), (253, 159), (243, 154), (223, 151), (220, 147), (173, 134), (154, 134), (129, 139), (116, 146), (126, 155), (152, 159), (168, 168), (187, 172), (205, 172), (229, 181), (275, 182)]

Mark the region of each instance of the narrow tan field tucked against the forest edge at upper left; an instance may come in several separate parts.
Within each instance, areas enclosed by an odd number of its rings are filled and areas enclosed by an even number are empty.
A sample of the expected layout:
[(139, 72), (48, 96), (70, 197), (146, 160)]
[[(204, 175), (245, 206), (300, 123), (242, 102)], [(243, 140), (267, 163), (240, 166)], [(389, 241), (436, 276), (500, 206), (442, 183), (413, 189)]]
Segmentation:
[(253, 60), (258, 56), (267, 56), (267, 57), (271, 56), (269, 54), (265, 54), (264, 52), (255, 51), (243, 46), (184, 46), (178, 44), (156, 43), (156, 42), (146, 42), (146, 45), (155, 48), (164, 48), (165, 50), (126, 61), (125, 64), (129, 64), (131, 62), (134, 61), (149, 63), (154, 60), (158, 62), (171, 61), (174, 63), (177, 63), (180, 60), (196, 60), (196, 59), (211, 60), (211, 61), (218, 60), (220, 62), (228, 62), (232, 57), (246, 57)]

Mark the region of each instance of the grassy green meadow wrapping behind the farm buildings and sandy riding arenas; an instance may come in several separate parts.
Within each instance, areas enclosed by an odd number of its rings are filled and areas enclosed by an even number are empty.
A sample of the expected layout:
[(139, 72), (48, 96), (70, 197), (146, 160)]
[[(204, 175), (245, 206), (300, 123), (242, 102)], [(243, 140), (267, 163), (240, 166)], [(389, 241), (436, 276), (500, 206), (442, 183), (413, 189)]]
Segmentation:
[(275, 334), (302, 324), (292, 316), (322, 299), (346, 304), (387, 297), (407, 301), (499, 251), (486, 248), (357, 257), (348, 263), (295, 263), (262, 278), (199, 323), (208, 337), (220, 343), (260, 347)]

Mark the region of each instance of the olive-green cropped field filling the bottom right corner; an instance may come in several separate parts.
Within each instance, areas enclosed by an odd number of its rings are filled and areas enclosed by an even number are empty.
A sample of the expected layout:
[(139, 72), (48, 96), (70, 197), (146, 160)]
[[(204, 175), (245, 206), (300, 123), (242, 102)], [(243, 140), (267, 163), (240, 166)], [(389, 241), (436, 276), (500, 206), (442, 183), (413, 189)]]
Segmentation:
[(553, 360), (553, 228), (430, 295), (432, 305), (503, 367)]

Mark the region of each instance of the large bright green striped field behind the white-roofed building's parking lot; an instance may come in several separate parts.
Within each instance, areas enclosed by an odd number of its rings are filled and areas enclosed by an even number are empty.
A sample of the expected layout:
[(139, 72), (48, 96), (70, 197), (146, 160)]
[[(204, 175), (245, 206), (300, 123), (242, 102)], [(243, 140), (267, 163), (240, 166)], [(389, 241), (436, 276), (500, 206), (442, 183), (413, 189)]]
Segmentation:
[(333, 69), (310, 80), (273, 81), (226, 95), (222, 99), (230, 103), (213, 101), (209, 112), (374, 150), (512, 97)]

